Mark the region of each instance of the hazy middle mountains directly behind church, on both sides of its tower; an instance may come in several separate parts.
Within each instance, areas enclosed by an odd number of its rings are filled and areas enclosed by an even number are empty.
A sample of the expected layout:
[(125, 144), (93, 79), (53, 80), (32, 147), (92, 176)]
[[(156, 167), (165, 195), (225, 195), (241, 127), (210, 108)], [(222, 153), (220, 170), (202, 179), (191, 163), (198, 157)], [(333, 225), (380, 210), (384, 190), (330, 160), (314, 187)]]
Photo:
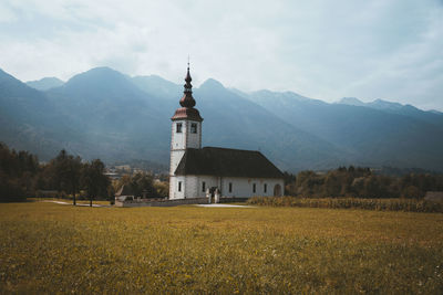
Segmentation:
[[(78, 154), (101, 151), (105, 159), (167, 162), (171, 117), (179, 107), (182, 86), (156, 76), (128, 78), (101, 67), (47, 94), (61, 114), (84, 130), (87, 140)], [(333, 145), (288, 125), (218, 82), (206, 82), (195, 89), (195, 97), (206, 117), (203, 140), (207, 146), (260, 149), (285, 169), (341, 162), (339, 155), (343, 155)]]

